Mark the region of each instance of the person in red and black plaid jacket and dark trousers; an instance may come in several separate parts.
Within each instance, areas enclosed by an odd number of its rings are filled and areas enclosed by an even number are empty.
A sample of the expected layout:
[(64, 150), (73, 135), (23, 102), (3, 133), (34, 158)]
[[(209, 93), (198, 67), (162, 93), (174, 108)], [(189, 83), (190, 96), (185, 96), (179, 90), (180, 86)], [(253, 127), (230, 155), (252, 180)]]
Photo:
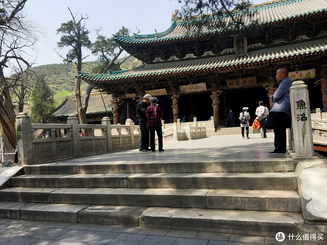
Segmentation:
[(163, 119), (163, 111), (159, 106), (157, 106), (158, 99), (156, 97), (150, 98), (151, 105), (146, 109), (146, 118), (148, 120), (148, 127), (150, 131), (150, 148), (152, 152), (156, 151), (155, 145), (155, 131), (158, 136), (159, 151), (163, 150), (163, 131), (161, 119)]

